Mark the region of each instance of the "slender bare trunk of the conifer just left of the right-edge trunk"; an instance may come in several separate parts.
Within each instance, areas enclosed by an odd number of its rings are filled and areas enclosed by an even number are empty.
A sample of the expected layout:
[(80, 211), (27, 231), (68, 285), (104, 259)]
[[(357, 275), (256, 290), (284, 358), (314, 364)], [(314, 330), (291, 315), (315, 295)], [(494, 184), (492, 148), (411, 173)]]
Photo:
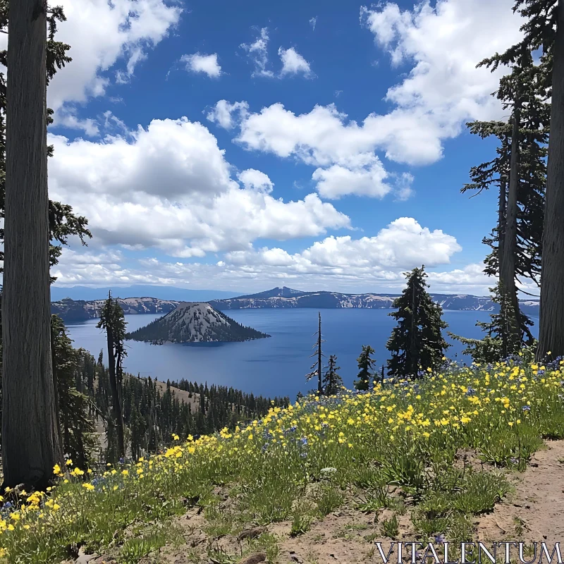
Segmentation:
[[(505, 210), (505, 232), (503, 234), (503, 255), (500, 264), (499, 278), (501, 291), (512, 306), (508, 312), (507, 332), (510, 345), (509, 352), (520, 343), (519, 301), (515, 286), (515, 261), (517, 259), (517, 197), (519, 192), (519, 125), (521, 121), (520, 102), (515, 101), (513, 110), (513, 133), (511, 137), (511, 160), (509, 173), (509, 189), (507, 208)], [(511, 311), (513, 309), (513, 311)]]

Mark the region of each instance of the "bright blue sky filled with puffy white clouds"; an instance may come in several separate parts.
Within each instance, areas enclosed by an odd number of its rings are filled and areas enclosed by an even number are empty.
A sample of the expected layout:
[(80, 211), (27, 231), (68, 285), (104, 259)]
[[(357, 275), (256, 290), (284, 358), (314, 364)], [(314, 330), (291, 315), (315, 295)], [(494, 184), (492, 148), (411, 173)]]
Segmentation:
[(63, 1), (51, 197), (90, 221), (58, 286), (487, 292), (496, 195), (460, 194), (504, 119), (476, 69), (512, 0)]

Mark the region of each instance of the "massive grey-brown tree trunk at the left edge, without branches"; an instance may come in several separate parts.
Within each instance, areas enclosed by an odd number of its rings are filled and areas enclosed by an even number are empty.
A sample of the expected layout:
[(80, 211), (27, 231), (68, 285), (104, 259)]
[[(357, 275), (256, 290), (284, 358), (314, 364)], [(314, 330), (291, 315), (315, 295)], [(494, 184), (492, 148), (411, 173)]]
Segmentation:
[(47, 4), (11, 0), (6, 110), (4, 486), (42, 487), (61, 462), (51, 367)]

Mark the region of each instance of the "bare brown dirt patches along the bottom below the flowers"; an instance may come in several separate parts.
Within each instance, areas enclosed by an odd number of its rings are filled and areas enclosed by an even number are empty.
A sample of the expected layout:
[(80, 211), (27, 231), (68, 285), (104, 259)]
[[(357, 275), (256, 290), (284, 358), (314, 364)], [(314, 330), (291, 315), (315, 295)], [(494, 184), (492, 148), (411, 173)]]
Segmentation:
[[(547, 441), (546, 448), (534, 455), (525, 472), (510, 473), (508, 476), (513, 482), (514, 491), (498, 503), (491, 513), (474, 518), (474, 540), (561, 541), (564, 537), (564, 520), (561, 518), (564, 506), (564, 441)], [(393, 513), (391, 510), (381, 510), (379, 513), (365, 514), (355, 509), (341, 508), (327, 515), (324, 520), (312, 523), (309, 531), (298, 537), (290, 537), (290, 522), (274, 523), (259, 532), (276, 536), (279, 547), (276, 560), (280, 564), (381, 562), (375, 542), (381, 541), (382, 548), (387, 551), (391, 539), (382, 534), (381, 522)], [(410, 519), (409, 506), (404, 515), (398, 515), (398, 520), (396, 540), (415, 541), (417, 536)], [(257, 564), (265, 558), (264, 553), (252, 554), (251, 560), (247, 560), (248, 555), (247, 558), (241, 558), (243, 552), (248, 552), (248, 539), (231, 535), (209, 539), (203, 531), (206, 525), (204, 515), (196, 508), (180, 517), (176, 525), (185, 542), (180, 540), (180, 545), (176, 547), (166, 546), (161, 549), (159, 556), (142, 562)], [(210, 558), (210, 548), (214, 555), (220, 556)], [(107, 558), (90, 558), (91, 564), (111, 562)], [(80, 560), (80, 564), (86, 561)]]

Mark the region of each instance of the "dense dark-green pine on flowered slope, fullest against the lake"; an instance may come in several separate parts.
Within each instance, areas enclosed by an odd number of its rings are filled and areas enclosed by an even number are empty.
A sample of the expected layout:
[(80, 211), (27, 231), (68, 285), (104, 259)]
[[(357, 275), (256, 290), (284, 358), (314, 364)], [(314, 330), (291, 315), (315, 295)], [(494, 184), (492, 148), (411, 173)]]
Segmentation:
[(450, 346), (441, 333), (441, 329), (447, 327), (441, 319), (443, 309), (425, 289), (429, 285), (425, 281), (424, 266), (405, 273), (405, 277), (407, 286), (393, 302), (398, 311), (388, 314), (398, 325), (386, 345), (392, 353), (388, 374), (399, 377), (417, 376), (420, 369), (436, 369)]

